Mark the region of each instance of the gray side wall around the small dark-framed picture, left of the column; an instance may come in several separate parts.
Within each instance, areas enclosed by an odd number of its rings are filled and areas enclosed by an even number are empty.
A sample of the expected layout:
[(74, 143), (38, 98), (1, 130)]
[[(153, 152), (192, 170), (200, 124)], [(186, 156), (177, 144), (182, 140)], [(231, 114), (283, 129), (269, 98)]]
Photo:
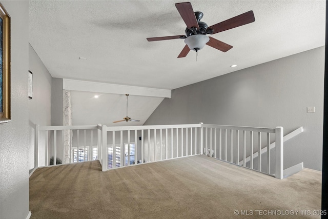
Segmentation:
[[(34, 142), (35, 125), (51, 125), (51, 84), (52, 77), (29, 44), (29, 70), (33, 73), (33, 98), (29, 99), (29, 132), (30, 132), (30, 150), (29, 150), (29, 169), (35, 167), (34, 163)], [(40, 141), (44, 142), (44, 139)], [(44, 148), (40, 148), (43, 152)], [(43, 153), (40, 153), (43, 154)]]

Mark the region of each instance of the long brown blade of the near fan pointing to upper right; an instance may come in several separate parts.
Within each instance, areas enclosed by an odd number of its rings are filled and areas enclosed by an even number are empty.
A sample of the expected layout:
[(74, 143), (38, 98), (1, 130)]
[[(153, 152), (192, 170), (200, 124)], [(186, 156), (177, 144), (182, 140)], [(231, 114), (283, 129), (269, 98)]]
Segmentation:
[(220, 22), (218, 24), (212, 25), (208, 27), (208, 29), (212, 29), (213, 33), (222, 32), (224, 30), (229, 30), (235, 27), (239, 27), (245, 24), (249, 24), (255, 21), (253, 11), (248, 11), (238, 16), (232, 17), (226, 21)]

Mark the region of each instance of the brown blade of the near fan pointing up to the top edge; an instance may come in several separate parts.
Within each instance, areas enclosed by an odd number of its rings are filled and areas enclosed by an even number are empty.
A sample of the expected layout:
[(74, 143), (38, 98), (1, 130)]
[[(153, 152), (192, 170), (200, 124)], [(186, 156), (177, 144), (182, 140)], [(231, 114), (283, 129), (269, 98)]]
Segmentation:
[(190, 2), (176, 3), (175, 7), (178, 9), (178, 12), (180, 13), (183, 21), (186, 23), (188, 29), (191, 29), (192, 27), (197, 28), (197, 30), (199, 29), (195, 13)]

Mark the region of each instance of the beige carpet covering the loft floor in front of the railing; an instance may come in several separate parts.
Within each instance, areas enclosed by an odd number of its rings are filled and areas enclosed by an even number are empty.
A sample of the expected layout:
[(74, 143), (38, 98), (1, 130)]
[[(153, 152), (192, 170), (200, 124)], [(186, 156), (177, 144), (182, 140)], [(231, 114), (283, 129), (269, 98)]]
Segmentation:
[(320, 218), (320, 206), (318, 171), (277, 180), (203, 155), (107, 172), (98, 161), (62, 165), (30, 177), (31, 218)]

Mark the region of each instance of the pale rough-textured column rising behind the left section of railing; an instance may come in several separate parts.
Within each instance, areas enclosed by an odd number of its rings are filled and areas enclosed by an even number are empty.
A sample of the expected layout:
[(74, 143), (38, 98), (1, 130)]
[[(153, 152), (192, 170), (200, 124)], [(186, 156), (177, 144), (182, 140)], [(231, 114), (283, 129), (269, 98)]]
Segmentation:
[[(69, 90), (63, 92), (63, 125), (72, 125), (72, 114), (71, 114), (71, 93)], [(64, 130), (64, 164), (70, 163), (70, 145), (71, 145), (71, 130)]]

